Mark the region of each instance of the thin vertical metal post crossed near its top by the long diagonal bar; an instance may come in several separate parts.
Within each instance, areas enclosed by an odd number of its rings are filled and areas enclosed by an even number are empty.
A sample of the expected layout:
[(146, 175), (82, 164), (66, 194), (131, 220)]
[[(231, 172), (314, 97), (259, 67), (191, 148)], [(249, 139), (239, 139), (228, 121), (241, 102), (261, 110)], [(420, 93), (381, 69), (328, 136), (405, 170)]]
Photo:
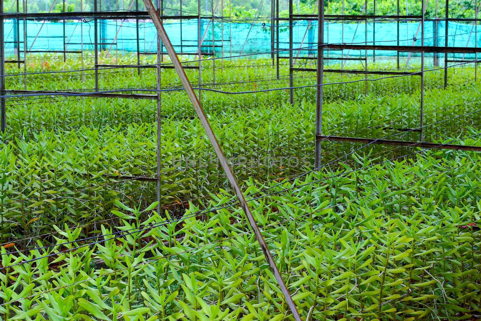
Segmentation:
[[(161, 15), (161, 5), (160, 5), (160, 0), (157, 0), (157, 12), (159, 13), (162, 21), (162, 15)], [(182, 19), (180, 20), (182, 21)], [(161, 213), (161, 204), (160, 204), (160, 198), (161, 198), (161, 130), (162, 130), (162, 102), (161, 102), (161, 71), (162, 71), (162, 61), (161, 61), (161, 45), (162, 45), (162, 40), (160, 39), (160, 34), (157, 32), (157, 202), (159, 202), (159, 205), (157, 206), (157, 214), (160, 216)]]

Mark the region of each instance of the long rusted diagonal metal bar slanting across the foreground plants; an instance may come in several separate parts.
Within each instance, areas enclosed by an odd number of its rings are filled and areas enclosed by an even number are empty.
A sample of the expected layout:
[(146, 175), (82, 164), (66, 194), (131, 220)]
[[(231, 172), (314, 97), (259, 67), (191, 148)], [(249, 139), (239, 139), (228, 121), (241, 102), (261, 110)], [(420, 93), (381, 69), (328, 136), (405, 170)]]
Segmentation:
[(190, 102), (194, 106), (195, 112), (197, 113), (197, 116), (201, 121), (201, 124), (205, 130), (205, 133), (207, 134), (209, 141), (214, 147), (215, 154), (217, 154), (217, 158), (219, 159), (222, 167), (224, 168), (224, 171), (226, 172), (226, 176), (230, 184), (232, 185), (234, 193), (239, 199), (239, 203), (241, 204), (241, 207), (244, 210), (244, 213), (246, 214), (247, 219), (249, 220), (249, 225), (251, 226), (254, 232), (255, 238), (257, 239), (257, 241), (259, 242), (259, 245), (261, 246), (262, 252), (264, 252), (264, 256), (266, 257), (267, 263), (269, 263), (269, 266), (272, 272), (274, 273), (274, 276), (276, 277), (277, 282), (279, 283), (279, 287), (282, 290), (282, 293), (284, 294), (284, 297), (287, 301), (289, 308), (291, 309), (292, 315), (294, 316), (294, 319), (296, 321), (301, 321), (301, 316), (297, 311), (294, 301), (292, 300), (291, 294), (289, 293), (289, 290), (287, 289), (287, 286), (284, 283), (284, 280), (282, 279), (282, 276), (279, 273), (276, 263), (274, 262), (274, 258), (272, 257), (272, 254), (270, 253), (267, 247), (266, 241), (264, 240), (264, 237), (262, 236), (262, 233), (259, 227), (257, 226), (257, 223), (252, 215), (249, 205), (247, 205), (247, 201), (244, 198), (244, 194), (242, 193), (241, 188), (239, 187), (239, 184), (237, 183), (237, 180), (234, 174), (232, 173), (232, 170), (229, 167), (226, 156), (222, 152), (219, 142), (215, 137), (214, 131), (210, 127), (209, 121), (207, 120), (207, 117), (205, 116), (204, 111), (202, 109), (201, 103), (197, 99), (197, 96), (192, 88), (192, 85), (190, 84), (189, 78), (187, 78), (184, 68), (182, 67), (182, 64), (180, 64), (180, 60), (178, 59), (177, 53), (174, 50), (174, 47), (172, 46), (172, 43), (170, 42), (170, 39), (167, 36), (167, 33), (165, 32), (165, 29), (159, 17), (159, 14), (155, 10), (151, 0), (143, 0), (143, 2), (145, 4), (145, 7), (147, 8), (147, 11), (149, 12), (149, 15), (152, 18), (152, 22), (154, 26), (157, 28), (157, 32), (159, 33), (159, 36), (162, 39), (162, 42), (164, 43), (165, 49), (169, 54), (172, 64), (174, 64), (177, 74), (180, 80), (182, 81), (182, 85), (184, 86), (187, 92), (187, 95), (189, 96)]

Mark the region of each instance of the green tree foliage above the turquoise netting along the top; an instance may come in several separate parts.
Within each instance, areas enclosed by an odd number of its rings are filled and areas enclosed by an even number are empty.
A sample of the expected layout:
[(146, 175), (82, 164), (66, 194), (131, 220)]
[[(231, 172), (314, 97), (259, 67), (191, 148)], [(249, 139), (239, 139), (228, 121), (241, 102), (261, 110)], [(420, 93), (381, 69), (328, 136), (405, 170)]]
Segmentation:
[[(54, 0), (27, 0), (27, 10), (30, 13), (42, 13), (48, 12), (51, 8)], [(132, 0), (101, 0), (99, 3), (99, 10), (127, 10), (131, 6), (131, 10), (136, 9), (136, 0), (132, 3)], [(221, 0), (218, 4), (220, 9), (221, 5), (224, 7), (224, 15), (229, 15), (229, 1)], [(177, 11), (169, 12), (168, 14), (180, 14), (179, 0), (163, 0), (164, 8), (174, 8)], [(210, 14), (212, 6), (216, 5), (216, 1), (201, 0), (201, 10), (203, 14)], [(294, 12), (297, 12), (296, 0), (293, 0)], [(328, 0), (325, 1), (325, 13), (326, 14), (342, 14), (342, 5), (344, 3), (344, 14), (362, 14), (364, 12), (365, 1), (364, 0)], [(376, 1), (376, 14), (380, 15), (395, 15), (397, 14), (397, 6), (395, 1), (392, 0), (377, 0)], [(421, 14), (421, 1), (420, 0), (407, 0), (400, 1), (400, 14), (420, 15)], [(81, 0), (67, 0), (66, 5), (68, 11), (80, 11)], [(155, 3), (154, 3), (155, 4)], [(5, 12), (16, 11), (16, 0), (3, 1)], [(93, 11), (93, 1), (82, 0), (84, 11)], [(142, 1), (139, 1), (139, 10), (143, 9)], [(261, 0), (248, 0), (239, 1), (231, 0), (231, 15), (232, 17), (269, 17), (271, 15), (271, 2)], [(197, 13), (197, 1), (196, 0), (183, 0), (182, 10), (191, 13)], [(46, 9), (47, 8), (47, 9)], [(259, 11), (257, 9), (259, 8)], [(218, 10), (219, 10), (218, 9)], [(373, 0), (367, 0), (367, 14), (374, 13)], [(23, 10), (22, 2), (20, 2), (20, 10)], [(67, 9), (66, 9), (67, 10)], [(316, 10), (316, 1), (314, 0), (300, 0), (299, 12), (300, 13), (313, 13)], [(62, 12), (63, 2), (55, 2), (53, 12)], [(288, 1), (279, 1), (279, 14), (285, 15), (288, 13)], [(184, 13), (185, 14), (185, 13)], [(445, 2), (444, 1), (428, 1), (426, 9), (427, 17), (444, 17), (445, 16)], [(450, 0), (449, 1), (449, 16), (456, 18), (474, 18), (475, 17), (475, 1), (474, 0)]]

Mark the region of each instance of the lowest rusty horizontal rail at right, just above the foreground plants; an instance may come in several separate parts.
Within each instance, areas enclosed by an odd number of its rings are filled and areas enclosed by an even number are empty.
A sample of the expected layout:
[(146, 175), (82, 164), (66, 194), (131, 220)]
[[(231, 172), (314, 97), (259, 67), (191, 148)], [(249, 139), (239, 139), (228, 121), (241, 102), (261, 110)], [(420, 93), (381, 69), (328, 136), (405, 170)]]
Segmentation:
[(357, 137), (344, 137), (344, 136), (325, 136), (325, 135), (318, 135), (316, 136), (316, 139), (321, 141), (347, 141), (347, 142), (359, 142), (364, 144), (439, 148), (439, 149), (452, 149), (457, 151), (481, 152), (481, 146), (472, 146), (472, 145), (438, 144), (433, 142), (421, 142), (421, 141), (393, 141), (393, 140), (385, 140), (385, 139), (357, 138)]

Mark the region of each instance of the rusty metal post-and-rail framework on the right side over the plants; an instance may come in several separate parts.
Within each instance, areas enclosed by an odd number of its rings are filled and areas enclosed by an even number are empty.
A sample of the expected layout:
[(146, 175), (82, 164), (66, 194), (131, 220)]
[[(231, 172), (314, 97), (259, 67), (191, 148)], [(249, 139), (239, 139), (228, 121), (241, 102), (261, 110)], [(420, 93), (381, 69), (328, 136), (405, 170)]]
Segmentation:
[[(277, 0), (278, 1), (278, 0)], [(376, 20), (381, 20), (385, 19), (385, 16), (381, 15), (376, 15), (376, 1), (374, 0), (374, 8), (373, 8), (373, 14), (369, 15), (367, 14), (367, 0), (365, 1), (365, 8), (364, 11), (366, 14), (361, 14), (361, 15), (329, 15), (329, 14), (324, 14), (324, 8), (325, 8), (325, 3), (324, 0), (318, 0), (318, 14), (294, 14), (292, 12), (292, 6), (293, 6), (293, 0), (289, 0), (289, 18), (279, 18), (277, 17), (277, 21), (289, 21), (289, 87), (290, 87), (290, 92), (289, 92), (289, 98), (290, 98), (290, 103), (291, 105), (294, 104), (294, 72), (316, 72), (316, 126), (315, 126), (315, 163), (314, 163), (314, 168), (320, 168), (321, 167), (321, 142), (324, 140), (329, 140), (329, 141), (349, 141), (349, 142), (364, 142), (364, 143), (376, 143), (376, 144), (388, 144), (388, 145), (399, 145), (399, 146), (419, 146), (419, 147), (429, 147), (429, 148), (444, 148), (444, 149), (458, 149), (458, 150), (473, 150), (473, 151), (481, 151), (481, 147), (479, 146), (460, 146), (460, 145), (450, 145), (447, 146), (446, 144), (440, 145), (440, 144), (435, 144), (435, 143), (423, 143), (424, 139), (424, 134), (423, 134), (423, 128), (424, 128), (424, 75), (425, 75), (425, 52), (432, 52), (434, 53), (434, 59), (433, 63), (434, 65), (438, 65), (438, 53), (444, 53), (444, 88), (447, 87), (447, 77), (448, 77), (448, 66), (449, 63), (451, 62), (457, 62), (454, 60), (449, 60), (448, 59), (448, 54), (449, 53), (463, 53), (463, 60), (464, 60), (464, 54), (466, 53), (474, 53), (475, 54), (475, 61), (472, 61), (472, 63), (475, 64), (475, 81), (477, 81), (477, 53), (481, 51), (480, 48), (477, 46), (477, 37), (475, 36), (475, 47), (450, 47), (448, 46), (448, 23), (449, 21), (468, 21), (474, 22), (473, 29), (476, 28), (477, 30), (477, 24), (480, 21), (478, 19), (478, 4), (477, 1), (475, 3), (475, 19), (466, 19), (466, 18), (450, 18), (449, 17), (449, 0), (446, 0), (445, 2), (445, 11), (446, 15), (444, 18), (445, 22), (445, 40), (444, 40), (444, 46), (440, 47), (438, 46), (437, 42), (437, 24), (438, 24), (438, 18), (436, 15), (435, 19), (426, 19), (425, 18), (425, 12), (427, 8), (427, 2), (428, 0), (421, 0), (422, 1), (422, 8), (421, 8), (421, 15), (420, 16), (415, 16), (415, 15), (399, 15), (400, 8), (399, 8), (399, 0), (397, 1), (397, 15), (396, 16), (389, 16), (389, 20), (395, 20), (397, 22), (397, 44), (394, 45), (376, 45), (375, 42), (375, 22)], [(329, 4), (328, 4), (329, 6)], [(436, 8), (437, 8), (437, 0), (436, 0)], [(373, 38), (372, 41), (368, 41), (367, 39), (367, 19), (372, 19), (373, 21)], [(294, 57), (293, 57), (293, 51), (296, 50), (293, 46), (293, 24), (294, 21), (296, 20), (305, 20), (305, 21), (316, 21), (317, 22), (317, 29), (318, 29), (318, 37), (317, 37), (317, 55), (316, 57), (304, 57), (303, 59), (316, 59), (316, 68), (298, 68), (294, 66)], [(340, 44), (330, 44), (329, 43), (329, 35), (328, 35), (328, 43), (325, 44), (324, 39), (325, 39), (325, 25), (324, 22), (325, 20), (328, 21), (336, 21), (336, 20), (341, 20), (342, 23), (344, 21), (362, 21), (364, 20), (365, 22), (365, 43), (364, 44), (345, 44), (345, 43), (340, 43)], [(399, 33), (399, 23), (401, 21), (417, 21), (419, 20), (419, 26), (418, 26), (418, 31), (419, 28), (421, 30), (421, 45), (420, 46), (414, 46), (416, 42), (416, 38), (413, 40), (413, 45), (412, 46), (402, 46), (400, 45), (400, 33)], [(424, 44), (424, 39), (425, 39), (425, 32), (424, 32), (424, 27), (425, 27), (425, 22), (426, 21), (432, 21), (434, 26), (435, 26), (435, 36), (434, 36), (434, 46), (425, 46)], [(307, 26), (307, 28), (310, 27), (310, 23)], [(473, 32), (473, 29), (471, 29), (471, 33)], [(329, 29), (328, 29), (329, 30)], [(343, 30), (343, 24), (342, 24), (342, 30)], [(306, 30), (307, 33), (307, 30)], [(471, 33), (469, 34), (469, 38), (471, 37)], [(418, 34), (416, 34), (415, 37), (417, 37)], [(305, 37), (305, 36), (304, 36)], [(342, 32), (342, 38), (343, 38), (343, 32)], [(354, 38), (353, 38), (354, 40)], [(274, 40), (273, 40), (274, 41)], [(304, 43), (304, 39), (301, 42), (300, 47), (302, 48)], [(369, 44), (372, 43), (372, 44)], [(279, 37), (277, 37), (277, 47), (279, 48)], [(357, 61), (363, 61), (364, 62), (364, 70), (346, 70), (341, 67), (341, 69), (325, 69), (324, 68), (324, 61), (329, 62), (329, 60), (340, 60), (343, 63), (347, 61), (349, 58), (344, 56), (344, 54), (341, 54), (341, 57), (329, 57), (329, 51), (335, 50), (335, 51), (341, 51), (347, 50), (355, 50), (355, 51), (364, 51), (365, 56), (364, 59), (362, 58), (351, 58), (352, 60), (357, 60)], [(300, 49), (298, 49), (298, 54), (299, 54)], [(376, 61), (376, 51), (396, 51), (396, 60), (397, 60), (397, 68), (399, 69), (399, 60), (400, 60), (400, 52), (409, 52), (409, 55), (407, 57), (407, 62), (406, 62), (406, 67), (409, 64), (409, 57), (412, 52), (419, 52), (420, 53), (420, 59), (421, 59), (421, 66), (420, 70), (418, 72), (407, 72), (407, 71), (383, 71), (383, 70), (368, 70), (367, 64), (368, 64), (368, 59), (367, 59), (367, 51), (372, 51), (372, 62), (375, 63)], [(325, 58), (325, 55), (327, 55), (328, 58)], [(285, 57), (281, 57), (285, 58)], [(298, 58), (298, 55), (296, 56)], [(279, 57), (277, 59), (277, 62), (279, 61)], [(359, 74), (365, 75), (365, 84), (366, 84), (366, 95), (368, 93), (367, 91), (367, 75), (389, 75), (389, 76), (419, 76), (420, 77), (420, 104), (419, 104), (419, 141), (392, 141), (392, 140), (384, 140), (384, 139), (364, 139), (364, 138), (358, 138), (358, 137), (340, 137), (340, 136), (325, 136), (322, 135), (322, 105), (323, 105), (323, 78), (324, 78), (324, 73), (341, 73), (341, 74)]]

